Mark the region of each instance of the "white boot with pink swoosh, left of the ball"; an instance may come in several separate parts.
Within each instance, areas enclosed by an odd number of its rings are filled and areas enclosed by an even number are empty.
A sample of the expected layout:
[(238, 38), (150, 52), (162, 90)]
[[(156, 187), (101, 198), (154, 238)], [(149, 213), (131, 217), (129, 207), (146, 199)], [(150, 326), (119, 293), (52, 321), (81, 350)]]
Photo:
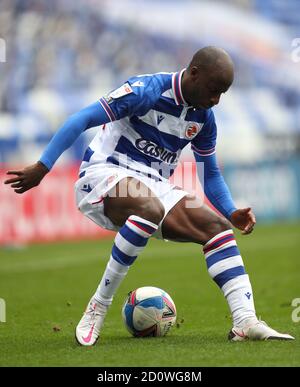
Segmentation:
[(78, 344), (85, 346), (96, 344), (107, 310), (108, 306), (100, 304), (94, 298), (90, 300), (76, 327), (75, 337)]

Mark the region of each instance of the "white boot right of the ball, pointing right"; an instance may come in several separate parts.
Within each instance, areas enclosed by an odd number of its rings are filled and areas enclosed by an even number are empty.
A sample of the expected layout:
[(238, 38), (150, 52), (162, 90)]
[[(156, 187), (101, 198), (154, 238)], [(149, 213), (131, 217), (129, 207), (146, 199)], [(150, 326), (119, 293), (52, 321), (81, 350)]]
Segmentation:
[(228, 334), (230, 341), (243, 340), (295, 340), (287, 333), (279, 333), (270, 328), (264, 321), (249, 319), (242, 327), (233, 327)]

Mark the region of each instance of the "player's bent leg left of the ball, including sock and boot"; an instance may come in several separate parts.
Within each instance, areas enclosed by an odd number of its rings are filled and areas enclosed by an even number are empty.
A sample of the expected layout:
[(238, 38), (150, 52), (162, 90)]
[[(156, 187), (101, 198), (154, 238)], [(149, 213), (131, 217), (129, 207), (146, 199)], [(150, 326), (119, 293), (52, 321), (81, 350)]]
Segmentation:
[(148, 187), (125, 178), (106, 196), (104, 213), (120, 229), (100, 284), (76, 328), (77, 341), (86, 346), (96, 343), (115, 292), (157, 230), (164, 208)]

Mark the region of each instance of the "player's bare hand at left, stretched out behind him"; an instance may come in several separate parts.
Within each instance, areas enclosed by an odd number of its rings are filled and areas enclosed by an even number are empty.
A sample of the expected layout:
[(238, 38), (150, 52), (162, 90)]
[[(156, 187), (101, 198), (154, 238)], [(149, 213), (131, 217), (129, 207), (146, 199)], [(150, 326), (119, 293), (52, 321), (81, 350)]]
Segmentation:
[(16, 177), (5, 180), (4, 184), (11, 184), (14, 191), (21, 194), (39, 185), (48, 172), (48, 168), (38, 161), (20, 171), (8, 171), (7, 175), (16, 175)]

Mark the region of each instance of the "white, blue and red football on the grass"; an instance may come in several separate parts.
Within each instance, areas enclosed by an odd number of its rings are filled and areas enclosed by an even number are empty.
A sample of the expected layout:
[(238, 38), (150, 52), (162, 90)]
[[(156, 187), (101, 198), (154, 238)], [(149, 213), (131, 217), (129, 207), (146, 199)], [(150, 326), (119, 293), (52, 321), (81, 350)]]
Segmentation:
[(164, 290), (144, 286), (128, 294), (122, 316), (135, 337), (165, 336), (176, 322), (176, 307)]

